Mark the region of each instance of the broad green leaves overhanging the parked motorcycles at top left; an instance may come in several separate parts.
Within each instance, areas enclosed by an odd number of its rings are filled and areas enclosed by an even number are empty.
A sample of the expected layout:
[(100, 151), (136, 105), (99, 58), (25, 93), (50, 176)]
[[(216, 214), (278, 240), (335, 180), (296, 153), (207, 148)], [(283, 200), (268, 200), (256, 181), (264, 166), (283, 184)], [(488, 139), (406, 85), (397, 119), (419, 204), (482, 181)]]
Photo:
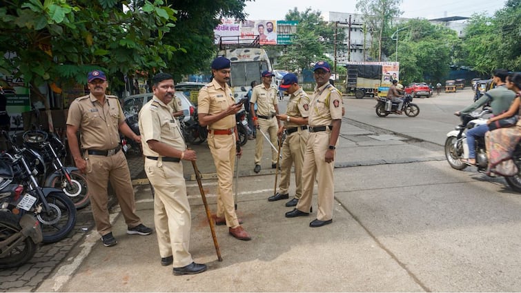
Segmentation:
[[(161, 54), (178, 48), (163, 43), (174, 26), (175, 10), (162, 0), (123, 10), (126, 1), (12, 0), (0, 7), (0, 59), (3, 74), (23, 77), (32, 94), (47, 83), (86, 83), (101, 68), (121, 77), (162, 68)], [(112, 78), (114, 83), (118, 79)]]

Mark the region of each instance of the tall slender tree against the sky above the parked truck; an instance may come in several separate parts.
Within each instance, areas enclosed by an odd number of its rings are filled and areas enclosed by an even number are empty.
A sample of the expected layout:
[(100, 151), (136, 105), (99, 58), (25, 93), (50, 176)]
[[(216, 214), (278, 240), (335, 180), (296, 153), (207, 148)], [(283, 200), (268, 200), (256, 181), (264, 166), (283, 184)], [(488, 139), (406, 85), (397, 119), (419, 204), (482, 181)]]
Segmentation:
[[(384, 32), (389, 27), (391, 20), (402, 14), (399, 9), (400, 3), (402, 3), (402, 0), (357, 0), (356, 9), (362, 12), (364, 21), (367, 21), (377, 31), (378, 61), (382, 61)], [(374, 52), (374, 50), (370, 52)]]

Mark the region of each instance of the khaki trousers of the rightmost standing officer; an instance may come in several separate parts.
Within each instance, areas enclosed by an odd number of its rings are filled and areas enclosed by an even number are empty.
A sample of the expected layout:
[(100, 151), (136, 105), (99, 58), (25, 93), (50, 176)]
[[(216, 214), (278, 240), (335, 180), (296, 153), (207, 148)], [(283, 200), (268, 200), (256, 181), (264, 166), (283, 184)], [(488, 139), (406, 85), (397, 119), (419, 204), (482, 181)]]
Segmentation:
[(313, 183), (315, 173), (318, 176), (318, 212), (317, 219), (328, 221), (333, 219), (333, 201), (335, 200), (335, 183), (333, 178), (334, 161), (326, 163), (330, 131), (310, 132), (306, 151), (304, 152), (304, 168), (302, 170), (303, 191), (297, 204), (297, 210), (309, 212), (313, 201)]

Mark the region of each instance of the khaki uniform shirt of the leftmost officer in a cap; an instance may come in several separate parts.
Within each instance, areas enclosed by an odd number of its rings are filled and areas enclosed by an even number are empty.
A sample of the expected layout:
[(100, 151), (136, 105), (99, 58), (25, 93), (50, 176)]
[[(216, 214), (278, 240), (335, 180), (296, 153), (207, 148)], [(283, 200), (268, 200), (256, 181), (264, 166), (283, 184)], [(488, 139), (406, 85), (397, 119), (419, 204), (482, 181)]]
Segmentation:
[(89, 94), (70, 103), (67, 124), (77, 126), (81, 148), (112, 150), (119, 145), (119, 123), (125, 121), (116, 96), (105, 96), (105, 103)]

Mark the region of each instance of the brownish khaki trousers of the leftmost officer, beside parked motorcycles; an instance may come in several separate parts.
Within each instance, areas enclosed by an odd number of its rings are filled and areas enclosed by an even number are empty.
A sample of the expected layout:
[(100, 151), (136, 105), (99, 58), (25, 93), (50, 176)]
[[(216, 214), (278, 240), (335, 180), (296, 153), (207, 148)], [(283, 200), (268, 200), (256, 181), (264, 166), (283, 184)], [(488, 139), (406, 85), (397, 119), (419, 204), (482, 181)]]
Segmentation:
[(125, 154), (120, 150), (113, 156), (95, 156), (85, 154), (87, 160), (87, 184), (90, 194), (90, 207), (96, 223), (96, 229), (104, 236), (112, 231), (108, 214), (108, 181), (116, 193), (116, 199), (121, 208), (128, 227), (141, 223), (136, 214), (134, 188), (130, 180), (130, 171)]

